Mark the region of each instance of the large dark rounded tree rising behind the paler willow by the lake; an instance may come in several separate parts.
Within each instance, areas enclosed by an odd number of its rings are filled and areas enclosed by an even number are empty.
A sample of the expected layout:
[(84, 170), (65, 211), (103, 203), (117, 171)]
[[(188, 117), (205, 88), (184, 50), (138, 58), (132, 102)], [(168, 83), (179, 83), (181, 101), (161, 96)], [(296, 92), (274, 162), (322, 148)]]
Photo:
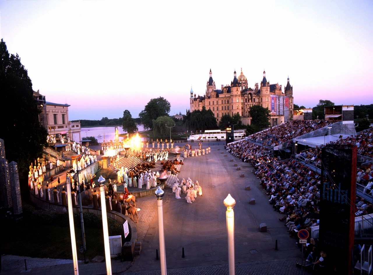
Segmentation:
[(170, 102), (163, 97), (152, 98), (148, 104), (145, 105), (144, 110), (140, 112), (139, 117), (145, 127), (152, 129), (153, 120), (161, 116), (168, 116), (170, 108)]

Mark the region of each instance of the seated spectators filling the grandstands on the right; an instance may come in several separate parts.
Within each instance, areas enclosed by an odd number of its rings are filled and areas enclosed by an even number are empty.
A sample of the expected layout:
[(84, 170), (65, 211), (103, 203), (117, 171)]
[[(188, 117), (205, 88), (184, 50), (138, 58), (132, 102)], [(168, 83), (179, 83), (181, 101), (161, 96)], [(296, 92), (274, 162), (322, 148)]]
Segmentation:
[[(261, 140), (263, 145), (275, 146), (326, 125), (325, 121), (290, 121), (226, 146), (227, 151), (232, 155), (253, 165), (253, 173), (260, 179), (260, 185), (268, 195), (269, 203), (275, 211), (284, 214), (283, 218), (279, 218), (279, 220), (288, 227), (290, 236), (294, 236), (300, 229), (311, 232), (311, 227), (320, 222), (319, 205), (322, 178), (319, 173), (308, 166), (308, 163), (313, 163), (320, 168), (321, 147), (311, 148), (301, 153), (306, 163), (293, 157), (281, 161), (272, 157), (267, 147), (258, 145), (257, 140)], [(358, 154), (372, 157), (372, 133), (373, 130), (370, 129), (356, 137), (339, 139), (333, 144), (358, 145)], [(366, 187), (366, 192), (372, 190), (373, 183), (372, 180), (369, 181), (373, 173), (371, 170), (373, 170), (372, 167), (364, 167), (360, 174), (361, 177), (361, 175), (370, 173), (370, 178), (367, 177), (370, 186)], [(325, 182), (325, 179), (323, 181)], [(373, 213), (373, 205), (364, 199), (359, 199), (359, 203), (354, 206), (357, 216)]]

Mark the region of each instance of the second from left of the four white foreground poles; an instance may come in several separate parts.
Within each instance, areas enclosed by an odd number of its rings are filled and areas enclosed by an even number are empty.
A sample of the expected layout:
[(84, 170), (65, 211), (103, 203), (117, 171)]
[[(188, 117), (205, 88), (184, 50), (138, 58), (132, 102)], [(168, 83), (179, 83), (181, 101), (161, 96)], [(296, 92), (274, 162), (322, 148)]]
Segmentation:
[(100, 183), (100, 197), (101, 197), (101, 215), (102, 215), (102, 228), (104, 231), (104, 250), (105, 250), (105, 261), (106, 261), (106, 274), (112, 275), (112, 262), (110, 258), (110, 244), (109, 244), (109, 230), (107, 229), (107, 213), (106, 213), (106, 202), (104, 192), (105, 179), (101, 175), (98, 178)]

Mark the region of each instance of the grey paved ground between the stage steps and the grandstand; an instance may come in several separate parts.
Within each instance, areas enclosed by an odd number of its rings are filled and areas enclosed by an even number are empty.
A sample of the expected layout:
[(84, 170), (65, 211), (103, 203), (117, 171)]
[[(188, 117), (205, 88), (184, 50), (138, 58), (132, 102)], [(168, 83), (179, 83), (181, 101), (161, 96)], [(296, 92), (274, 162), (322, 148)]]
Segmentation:
[[(295, 244), (298, 239), (289, 237), (284, 223), (278, 220), (283, 215), (273, 211), (258, 178), (251, 172), (251, 164), (226, 152), (223, 142), (210, 143), (210, 147), (210, 154), (185, 158), (178, 175), (180, 181), (188, 177), (198, 180), (203, 196), (197, 195), (196, 202), (189, 204), (185, 195), (176, 199), (171, 189), (164, 190), (167, 274), (228, 274), (226, 207), (223, 204), (228, 194), (236, 201), (233, 209), (235, 274), (302, 274), (295, 266), (301, 261), (301, 252)], [(245, 190), (247, 185), (250, 190)], [(249, 204), (250, 199), (255, 199), (255, 204)], [(139, 198), (137, 207), (140, 208), (137, 230), (138, 240), (142, 241), (141, 254), (133, 262), (112, 260), (113, 274), (160, 274), (156, 197)], [(261, 223), (266, 223), (267, 232), (259, 231)], [(3, 271), (2, 274), (25, 272), (24, 268), (9, 270), (10, 273)], [(73, 274), (73, 266), (72, 263), (40, 266), (26, 272)], [(105, 262), (79, 263), (79, 274), (106, 274)]]

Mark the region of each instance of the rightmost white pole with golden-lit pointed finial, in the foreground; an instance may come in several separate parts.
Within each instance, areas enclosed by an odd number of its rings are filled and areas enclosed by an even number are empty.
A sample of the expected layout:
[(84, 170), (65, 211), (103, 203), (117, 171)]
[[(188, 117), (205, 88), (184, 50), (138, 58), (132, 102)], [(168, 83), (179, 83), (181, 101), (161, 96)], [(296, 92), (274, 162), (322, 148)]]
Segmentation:
[(235, 274), (235, 253), (234, 253), (234, 213), (233, 207), (236, 204), (235, 199), (232, 198), (231, 194), (223, 200), (225, 207), (227, 208), (226, 211), (226, 219), (227, 219), (227, 233), (228, 233), (228, 267), (229, 267), (229, 275)]

